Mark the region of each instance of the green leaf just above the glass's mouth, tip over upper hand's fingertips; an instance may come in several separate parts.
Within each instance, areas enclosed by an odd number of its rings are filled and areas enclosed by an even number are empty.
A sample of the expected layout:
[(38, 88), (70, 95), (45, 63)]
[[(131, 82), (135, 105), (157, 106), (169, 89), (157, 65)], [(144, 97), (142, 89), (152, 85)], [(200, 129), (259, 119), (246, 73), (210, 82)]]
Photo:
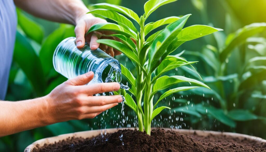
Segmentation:
[(118, 51), (125, 54), (131, 61), (138, 63), (138, 56), (133, 51), (131, 51), (130, 48), (128, 48), (125, 44), (110, 39), (99, 39), (97, 40), (97, 42), (117, 49)]

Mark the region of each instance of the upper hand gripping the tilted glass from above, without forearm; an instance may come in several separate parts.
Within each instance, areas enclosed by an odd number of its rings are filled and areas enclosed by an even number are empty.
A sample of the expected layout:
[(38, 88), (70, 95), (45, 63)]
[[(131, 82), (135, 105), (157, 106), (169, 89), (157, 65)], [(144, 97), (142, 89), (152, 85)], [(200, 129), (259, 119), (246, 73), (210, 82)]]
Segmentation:
[(92, 27), (94, 24), (97, 23), (107, 23), (107, 21), (101, 18), (94, 17), (92, 14), (85, 14), (76, 20), (75, 34), (77, 38), (76, 39), (77, 48), (84, 47), (85, 42), (87, 42), (88, 44), (90, 44), (90, 49), (92, 50), (100, 48), (101, 50), (103, 50), (104, 52), (106, 52), (111, 56), (121, 54), (121, 52), (113, 49), (112, 47), (99, 44), (96, 42), (100, 38), (114, 39), (119, 41), (118, 38), (115, 38), (113, 36), (108, 36), (108, 37), (103, 36), (103, 35), (113, 34), (110, 31), (92, 32), (89, 33), (88, 35), (85, 35), (89, 31), (90, 27)]

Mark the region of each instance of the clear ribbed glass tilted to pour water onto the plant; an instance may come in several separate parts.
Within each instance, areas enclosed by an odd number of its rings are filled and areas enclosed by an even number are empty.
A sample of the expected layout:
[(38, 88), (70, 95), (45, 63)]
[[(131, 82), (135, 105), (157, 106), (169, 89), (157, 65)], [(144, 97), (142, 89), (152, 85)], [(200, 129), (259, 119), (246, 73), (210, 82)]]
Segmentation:
[[(57, 72), (68, 79), (93, 71), (94, 78), (89, 84), (121, 82), (121, 67), (118, 60), (100, 49), (90, 50), (88, 44), (78, 49), (74, 37), (64, 39), (56, 47), (53, 55), (53, 66)], [(103, 81), (102, 74), (106, 69), (107, 71), (110, 70), (108, 74), (104, 73), (106, 79)]]

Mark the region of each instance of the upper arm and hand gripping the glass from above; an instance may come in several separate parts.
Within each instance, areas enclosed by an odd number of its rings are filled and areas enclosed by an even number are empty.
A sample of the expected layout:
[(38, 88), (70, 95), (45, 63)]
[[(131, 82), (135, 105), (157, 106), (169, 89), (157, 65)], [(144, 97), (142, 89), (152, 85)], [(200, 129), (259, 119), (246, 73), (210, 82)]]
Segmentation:
[[(86, 41), (90, 44), (92, 50), (99, 47), (111, 56), (121, 54), (121, 52), (111, 47), (96, 42), (107, 31), (93, 32), (85, 36), (91, 26), (97, 23), (106, 23), (106, 20), (94, 17), (92, 14), (86, 14), (89, 9), (81, 0), (14, 0), (14, 2), (16, 6), (36, 17), (76, 26), (75, 33), (78, 48), (82, 48)], [(113, 37), (104, 38), (115, 39)]]

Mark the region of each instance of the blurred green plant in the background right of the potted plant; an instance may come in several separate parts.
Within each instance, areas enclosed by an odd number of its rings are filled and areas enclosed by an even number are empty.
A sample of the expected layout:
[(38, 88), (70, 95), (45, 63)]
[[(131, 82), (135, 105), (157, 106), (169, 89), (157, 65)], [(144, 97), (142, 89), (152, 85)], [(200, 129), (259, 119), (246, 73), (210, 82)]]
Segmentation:
[[(206, 1), (192, 0), (192, 2), (196, 9), (203, 11), (201, 14), (205, 15)], [(225, 2), (222, 4), (226, 6)], [(229, 16), (231, 18), (228, 19)], [(230, 26), (232, 22), (236, 22), (232, 21), (233, 16), (226, 15), (226, 23)], [(229, 30), (229, 28), (226, 29)], [(198, 122), (202, 115), (207, 115), (232, 128), (236, 128), (236, 121), (266, 120), (266, 117), (254, 114), (254, 106), (245, 106), (250, 98), (264, 99), (265, 97), (257, 89), (266, 79), (266, 41), (262, 37), (253, 37), (263, 33), (265, 29), (266, 23), (252, 23), (227, 36), (224, 32), (214, 33), (217, 47), (209, 45), (211, 44), (210, 39), (206, 39), (209, 44), (204, 46), (200, 52), (184, 51), (184, 56), (187, 58), (203, 61), (203, 64), (198, 64), (196, 67), (203, 75), (204, 82), (212, 90), (193, 89), (189, 93), (182, 93), (182, 95), (188, 95), (188, 98), (194, 99), (203, 95), (208, 103), (210, 100), (218, 101), (219, 106), (205, 104), (203, 106), (200, 103), (172, 110), (195, 116), (197, 121), (194, 122)], [(197, 77), (193, 73), (190, 75)], [(195, 95), (198, 96), (195, 97)]]

